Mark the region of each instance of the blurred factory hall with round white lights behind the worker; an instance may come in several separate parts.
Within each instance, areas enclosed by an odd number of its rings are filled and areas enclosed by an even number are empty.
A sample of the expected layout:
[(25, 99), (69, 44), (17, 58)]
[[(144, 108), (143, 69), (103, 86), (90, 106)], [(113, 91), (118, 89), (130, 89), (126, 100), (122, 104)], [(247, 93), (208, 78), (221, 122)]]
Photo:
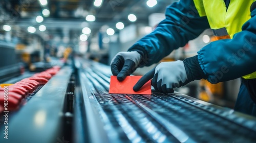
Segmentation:
[[(3, 0), (0, 2), (1, 68), (15, 64), (35, 70), (42, 62), (56, 58), (65, 61), (71, 51), (109, 65), (118, 52), (126, 51), (152, 32), (165, 18), (165, 8), (174, 2), (177, 1)], [(211, 30), (206, 30), (163, 61), (196, 55), (201, 47), (214, 40)], [(138, 68), (134, 74), (143, 75), (154, 66)], [(232, 107), (239, 82), (211, 85), (201, 80), (176, 90)]]

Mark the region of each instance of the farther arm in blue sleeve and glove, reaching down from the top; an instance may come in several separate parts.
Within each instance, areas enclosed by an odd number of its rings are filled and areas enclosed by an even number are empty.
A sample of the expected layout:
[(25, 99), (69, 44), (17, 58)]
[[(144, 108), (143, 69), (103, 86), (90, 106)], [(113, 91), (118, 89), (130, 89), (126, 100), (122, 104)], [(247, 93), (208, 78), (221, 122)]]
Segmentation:
[[(151, 33), (136, 42), (128, 52), (119, 52), (111, 61), (111, 71), (119, 81), (137, 67), (159, 62), (174, 49), (184, 46), (209, 28), (199, 1), (181, 0), (166, 9), (166, 18)], [(128, 34), (128, 33), (127, 33)]]

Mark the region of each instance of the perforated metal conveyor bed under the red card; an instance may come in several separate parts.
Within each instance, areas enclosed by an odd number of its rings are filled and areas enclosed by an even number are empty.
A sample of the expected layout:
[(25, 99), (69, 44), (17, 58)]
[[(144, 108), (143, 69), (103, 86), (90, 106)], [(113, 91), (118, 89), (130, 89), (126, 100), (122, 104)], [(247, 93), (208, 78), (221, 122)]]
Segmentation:
[[(256, 119), (178, 92), (109, 94), (109, 66), (77, 59), (83, 100), (75, 107), (89, 142), (254, 142)], [(78, 89), (78, 88), (77, 88)], [(77, 94), (78, 95), (78, 94)], [(76, 104), (78, 105), (78, 103)], [(79, 112), (78, 112), (79, 111)], [(94, 129), (92, 129), (94, 128)], [(97, 128), (97, 129), (95, 129)], [(103, 131), (102, 131), (103, 130)], [(101, 139), (97, 135), (101, 134)], [(79, 137), (78, 137), (79, 138)], [(82, 137), (80, 136), (80, 139)], [(107, 141), (108, 140), (108, 141)]]

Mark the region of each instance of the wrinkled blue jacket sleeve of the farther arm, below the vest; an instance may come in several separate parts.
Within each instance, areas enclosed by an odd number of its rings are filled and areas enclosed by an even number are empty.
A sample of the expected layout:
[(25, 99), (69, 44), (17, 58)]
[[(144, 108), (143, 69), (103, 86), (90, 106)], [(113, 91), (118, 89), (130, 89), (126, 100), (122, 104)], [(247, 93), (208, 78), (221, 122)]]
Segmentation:
[(193, 0), (181, 0), (170, 5), (165, 15), (166, 18), (151, 34), (137, 41), (128, 50), (140, 51), (146, 66), (159, 62), (209, 28), (206, 16), (199, 16)]

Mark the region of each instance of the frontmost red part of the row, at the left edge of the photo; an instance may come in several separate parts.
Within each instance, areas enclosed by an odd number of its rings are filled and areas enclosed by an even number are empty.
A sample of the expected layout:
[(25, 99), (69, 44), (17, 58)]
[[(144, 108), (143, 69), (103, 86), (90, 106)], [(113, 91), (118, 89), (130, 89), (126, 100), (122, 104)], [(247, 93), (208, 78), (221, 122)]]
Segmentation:
[[(7, 109), (8, 110), (14, 110), (14, 109), (17, 109), (17, 107), (18, 107), (18, 104), (19, 104), (19, 101), (16, 99), (16, 98), (14, 98), (14, 97), (12, 97), (12, 96), (8, 96), (8, 107), (7, 107)], [(5, 103), (5, 96), (4, 96), (4, 94), (1, 92), (0, 93), (0, 105), (2, 106), (2, 107), (4, 107), (5, 105), (4, 105), (4, 103)]]

